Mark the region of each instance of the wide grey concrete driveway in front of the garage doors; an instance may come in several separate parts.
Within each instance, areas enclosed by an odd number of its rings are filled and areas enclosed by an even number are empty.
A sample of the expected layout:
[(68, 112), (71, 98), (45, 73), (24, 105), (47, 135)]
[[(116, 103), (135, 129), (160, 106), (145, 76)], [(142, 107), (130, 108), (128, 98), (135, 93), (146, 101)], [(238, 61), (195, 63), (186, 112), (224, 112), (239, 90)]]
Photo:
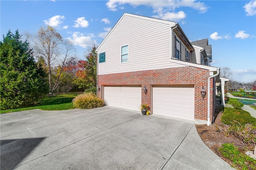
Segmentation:
[(194, 122), (105, 106), (1, 114), (1, 170), (227, 170)]

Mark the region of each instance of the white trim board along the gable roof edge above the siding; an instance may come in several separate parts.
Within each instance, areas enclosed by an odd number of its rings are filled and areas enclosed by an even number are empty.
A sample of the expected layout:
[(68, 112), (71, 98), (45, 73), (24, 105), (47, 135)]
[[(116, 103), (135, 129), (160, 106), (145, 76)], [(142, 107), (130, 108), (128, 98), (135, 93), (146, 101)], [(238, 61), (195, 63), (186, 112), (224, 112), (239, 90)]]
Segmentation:
[[(124, 18), (124, 16), (132, 16), (135, 18), (141, 18), (144, 20), (150, 20), (150, 21), (154, 21), (154, 22), (160, 22), (160, 23), (164, 23), (164, 24), (169, 24), (170, 28), (176, 25), (176, 22), (172, 22), (172, 21), (167, 21), (167, 20), (160, 20), (160, 19), (156, 19), (156, 18), (150, 18), (150, 17), (146, 17), (146, 16), (140, 16), (140, 15), (135, 15), (135, 14), (129, 14), (129, 13), (124, 13), (122, 15), (122, 17), (118, 20), (118, 22), (115, 24), (115, 26), (110, 30), (110, 32), (108, 33), (108, 35), (104, 38), (104, 40), (100, 43), (100, 45), (98, 46), (98, 48), (100, 48), (100, 46), (102, 46), (102, 44), (105, 42), (105, 40), (108, 38), (108, 36), (111, 34), (111, 32), (116, 28), (116, 26), (119, 24), (119, 22)], [(98, 48), (96, 49), (96, 52), (98, 52)]]

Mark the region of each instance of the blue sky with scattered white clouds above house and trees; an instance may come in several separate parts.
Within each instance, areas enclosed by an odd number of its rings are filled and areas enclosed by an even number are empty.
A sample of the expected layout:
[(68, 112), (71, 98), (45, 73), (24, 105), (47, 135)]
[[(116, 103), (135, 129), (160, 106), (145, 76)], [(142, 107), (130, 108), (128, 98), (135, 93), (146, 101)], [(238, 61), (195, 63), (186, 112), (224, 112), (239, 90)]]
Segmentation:
[(124, 12), (178, 22), (190, 41), (208, 38), (211, 66), (230, 68), (239, 82), (256, 80), (256, 0), (1, 0), (0, 39), (8, 30), (35, 34), (50, 25), (85, 59)]

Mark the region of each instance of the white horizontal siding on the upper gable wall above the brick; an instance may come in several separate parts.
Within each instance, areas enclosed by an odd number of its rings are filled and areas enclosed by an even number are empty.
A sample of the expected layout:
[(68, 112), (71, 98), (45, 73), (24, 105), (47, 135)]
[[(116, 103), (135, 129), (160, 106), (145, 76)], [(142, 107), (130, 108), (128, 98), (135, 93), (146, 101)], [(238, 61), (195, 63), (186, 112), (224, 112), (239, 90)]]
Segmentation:
[[(170, 62), (170, 30), (170, 24), (124, 16), (98, 48), (106, 51), (98, 75), (183, 66)], [(121, 63), (120, 48), (127, 44), (129, 62)]]

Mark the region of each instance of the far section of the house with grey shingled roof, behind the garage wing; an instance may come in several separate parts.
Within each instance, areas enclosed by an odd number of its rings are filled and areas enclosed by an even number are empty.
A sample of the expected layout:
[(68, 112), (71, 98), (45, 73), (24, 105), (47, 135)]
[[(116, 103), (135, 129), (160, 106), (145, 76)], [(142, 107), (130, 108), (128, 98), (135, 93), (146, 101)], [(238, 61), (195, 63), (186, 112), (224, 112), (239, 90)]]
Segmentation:
[(210, 66), (212, 62), (212, 45), (208, 44), (208, 38), (191, 42), (194, 51), (191, 52), (190, 62)]

